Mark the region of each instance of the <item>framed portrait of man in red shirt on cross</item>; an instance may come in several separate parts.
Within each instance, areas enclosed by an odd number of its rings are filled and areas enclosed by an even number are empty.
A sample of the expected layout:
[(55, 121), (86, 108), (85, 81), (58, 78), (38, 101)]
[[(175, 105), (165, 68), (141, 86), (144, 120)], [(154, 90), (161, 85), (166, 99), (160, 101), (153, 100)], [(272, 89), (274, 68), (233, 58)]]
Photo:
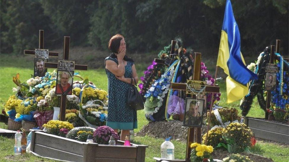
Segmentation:
[(56, 94), (72, 94), (73, 72), (71, 74), (69, 71), (57, 71), (56, 80)]

